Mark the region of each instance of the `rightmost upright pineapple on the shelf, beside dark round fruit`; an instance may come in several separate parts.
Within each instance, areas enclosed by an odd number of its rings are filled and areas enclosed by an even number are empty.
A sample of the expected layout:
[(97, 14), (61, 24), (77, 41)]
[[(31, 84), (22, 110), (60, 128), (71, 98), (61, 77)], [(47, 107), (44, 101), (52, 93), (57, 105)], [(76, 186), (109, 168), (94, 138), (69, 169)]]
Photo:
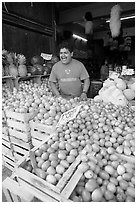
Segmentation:
[(25, 77), (27, 75), (27, 67), (26, 67), (26, 57), (22, 54), (17, 55), (18, 60), (18, 73), (20, 77)]

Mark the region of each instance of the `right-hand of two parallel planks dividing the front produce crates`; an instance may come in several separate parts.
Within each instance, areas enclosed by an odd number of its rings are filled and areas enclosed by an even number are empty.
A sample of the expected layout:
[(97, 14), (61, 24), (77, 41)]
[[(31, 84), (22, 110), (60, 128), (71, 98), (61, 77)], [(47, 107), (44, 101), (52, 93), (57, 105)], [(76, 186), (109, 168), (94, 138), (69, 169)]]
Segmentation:
[(83, 173), (78, 170), (73, 174), (70, 181), (68, 182), (66, 187), (61, 192), (61, 195), (63, 197), (65, 197), (66, 199), (70, 197), (71, 193), (73, 192), (74, 188), (76, 187), (82, 175)]

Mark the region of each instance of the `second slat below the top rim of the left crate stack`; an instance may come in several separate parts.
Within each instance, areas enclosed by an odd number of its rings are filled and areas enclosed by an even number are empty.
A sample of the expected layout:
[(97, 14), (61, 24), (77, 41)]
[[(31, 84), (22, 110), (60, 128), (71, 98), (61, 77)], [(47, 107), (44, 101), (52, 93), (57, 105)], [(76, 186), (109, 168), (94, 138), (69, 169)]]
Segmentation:
[(21, 131), (18, 131), (16, 129), (11, 129), (11, 128), (9, 128), (9, 135), (22, 139), (25, 142), (28, 142), (31, 139), (30, 132), (21, 132)]

